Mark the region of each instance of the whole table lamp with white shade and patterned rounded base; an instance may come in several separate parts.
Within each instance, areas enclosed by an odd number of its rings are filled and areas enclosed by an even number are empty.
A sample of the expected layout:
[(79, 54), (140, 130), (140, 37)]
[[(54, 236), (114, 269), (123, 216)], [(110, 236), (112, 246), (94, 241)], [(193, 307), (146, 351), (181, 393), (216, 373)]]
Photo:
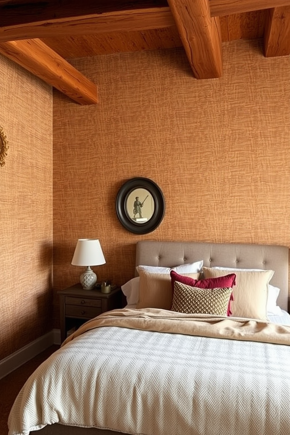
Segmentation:
[(80, 284), (84, 290), (91, 290), (97, 282), (97, 275), (90, 266), (105, 264), (106, 260), (98, 239), (79, 239), (73, 254), (73, 266), (87, 266), (86, 271), (80, 275)]

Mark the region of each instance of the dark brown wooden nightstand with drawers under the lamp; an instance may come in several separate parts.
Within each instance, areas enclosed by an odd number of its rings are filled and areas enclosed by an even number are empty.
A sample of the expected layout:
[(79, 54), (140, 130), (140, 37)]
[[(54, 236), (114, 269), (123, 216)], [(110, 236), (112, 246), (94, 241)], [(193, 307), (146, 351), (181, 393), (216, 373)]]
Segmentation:
[(87, 320), (122, 307), (120, 287), (102, 293), (97, 288), (83, 290), (81, 284), (76, 284), (57, 293), (60, 295), (61, 342), (67, 338), (68, 331), (79, 328)]

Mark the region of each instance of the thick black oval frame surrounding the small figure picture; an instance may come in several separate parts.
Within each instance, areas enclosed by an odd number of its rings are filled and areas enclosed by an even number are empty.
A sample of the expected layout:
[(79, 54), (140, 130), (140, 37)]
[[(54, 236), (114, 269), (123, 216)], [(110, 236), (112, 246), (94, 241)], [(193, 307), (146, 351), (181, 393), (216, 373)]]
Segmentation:
[[(154, 211), (147, 222), (137, 223), (128, 214), (127, 200), (135, 189), (147, 190), (154, 201)], [(126, 181), (116, 198), (116, 212), (119, 221), (128, 231), (135, 234), (147, 234), (161, 223), (165, 213), (165, 200), (160, 187), (149, 178), (136, 177)]]

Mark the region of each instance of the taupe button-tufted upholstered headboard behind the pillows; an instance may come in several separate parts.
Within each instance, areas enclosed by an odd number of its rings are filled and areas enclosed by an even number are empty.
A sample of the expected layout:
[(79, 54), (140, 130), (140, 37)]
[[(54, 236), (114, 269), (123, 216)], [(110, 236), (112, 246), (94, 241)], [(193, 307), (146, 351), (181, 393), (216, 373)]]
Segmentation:
[[(272, 269), (271, 284), (280, 288), (277, 305), (288, 308), (289, 249), (285, 246), (208, 242), (139, 241), (136, 266), (174, 267), (203, 260), (206, 267)], [(137, 275), (137, 272), (136, 272)]]

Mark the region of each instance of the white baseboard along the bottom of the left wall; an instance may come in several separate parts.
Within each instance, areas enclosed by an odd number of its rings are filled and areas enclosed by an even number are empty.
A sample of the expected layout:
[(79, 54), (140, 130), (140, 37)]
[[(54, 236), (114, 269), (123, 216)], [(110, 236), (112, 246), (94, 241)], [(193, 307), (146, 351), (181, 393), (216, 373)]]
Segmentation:
[(52, 329), (50, 332), (47, 332), (47, 334), (42, 335), (42, 337), (37, 338), (13, 354), (1, 359), (0, 379), (25, 364), (45, 349), (52, 345), (60, 345), (60, 343), (60, 330)]

